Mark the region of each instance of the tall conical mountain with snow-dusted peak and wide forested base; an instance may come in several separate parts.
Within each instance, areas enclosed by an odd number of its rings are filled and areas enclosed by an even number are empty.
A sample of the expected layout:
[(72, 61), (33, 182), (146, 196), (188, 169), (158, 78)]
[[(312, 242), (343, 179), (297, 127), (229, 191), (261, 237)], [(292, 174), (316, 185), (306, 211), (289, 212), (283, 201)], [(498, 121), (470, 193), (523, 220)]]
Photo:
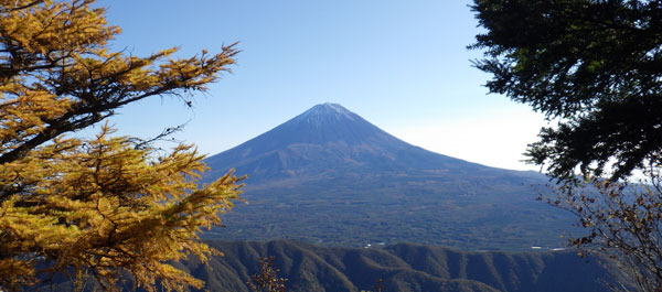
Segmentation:
[(424, 150), (333, 104), (206, 162), (206, 180), (231, 167), (249, 177), (249, 204), (226, 216), (227, 227), (210, 234), (216, 238), (525, 249), (564, 245), (570, 226), (535, 202), (543, 175)]

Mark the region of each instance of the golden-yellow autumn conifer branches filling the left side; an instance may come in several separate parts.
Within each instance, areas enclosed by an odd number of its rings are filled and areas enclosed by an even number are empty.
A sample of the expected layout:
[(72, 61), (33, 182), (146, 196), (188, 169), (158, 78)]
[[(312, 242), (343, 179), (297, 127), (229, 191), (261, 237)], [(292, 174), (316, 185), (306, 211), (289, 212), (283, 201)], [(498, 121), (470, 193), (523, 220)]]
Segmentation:
[(148, 291), (201, 286), (170, 263), (216, 252), (199, 234), (221, 224), (241, 179), (201, 186), (203, 156), (191, 145), (158, 152), (107, 126), (89, 139), (66, 133), (143, 98), (188, 101), (236, 51), (111, 52), (120, 30), (93, 2), (0, 0), (0, 290), (61, 272), (106, 290), (126, 273)]

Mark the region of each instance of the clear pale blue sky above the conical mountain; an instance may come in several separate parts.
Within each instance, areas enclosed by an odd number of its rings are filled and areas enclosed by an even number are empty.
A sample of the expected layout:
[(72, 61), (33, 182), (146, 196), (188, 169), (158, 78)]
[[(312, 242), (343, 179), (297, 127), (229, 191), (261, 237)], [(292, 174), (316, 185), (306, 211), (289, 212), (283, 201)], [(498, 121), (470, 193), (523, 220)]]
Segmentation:
[(479, 32), (469, 1), (103, 0), (122, 28), (114, 46), (136, 55), (179, 46), (188, 56), (239, 42), (233, 73), (186, 109), (174, 98), (124, 108), (125, 133), (177, 138), (214, 154), (321, 102), (338, 102), (396, 137), (491, 166), (520, 162), (542, 116), (487, 95), (471, 67)]

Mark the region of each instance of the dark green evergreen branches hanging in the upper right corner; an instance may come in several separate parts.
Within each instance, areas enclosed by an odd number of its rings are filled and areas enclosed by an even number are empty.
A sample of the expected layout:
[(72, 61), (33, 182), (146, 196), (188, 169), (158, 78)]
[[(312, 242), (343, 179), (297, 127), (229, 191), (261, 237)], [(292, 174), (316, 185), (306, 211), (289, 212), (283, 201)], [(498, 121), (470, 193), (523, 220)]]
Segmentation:
[[(549, 173), (628, 176), (662, 151), (662, 1), (474, 0), (491, 93), (559, 121), (527, 154)], [(616, 162), (615, 165), (609, 165)]]

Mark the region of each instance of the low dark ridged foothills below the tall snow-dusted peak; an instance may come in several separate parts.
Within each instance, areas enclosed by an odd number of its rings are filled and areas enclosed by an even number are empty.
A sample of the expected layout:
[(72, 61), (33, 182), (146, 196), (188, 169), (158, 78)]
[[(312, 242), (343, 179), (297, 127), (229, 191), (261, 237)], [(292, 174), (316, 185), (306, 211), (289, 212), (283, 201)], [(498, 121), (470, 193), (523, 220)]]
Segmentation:
[(271, 256), (288, 291), (357, 292), (378, 279), (387, 292), (594, 292), (612, 282), (604, 264), (574, 252), (463, 252), (399, 244), (384, 248), (331, 248), (292, 241), (211, 241), (224, 257), (183, 267), (210, 291), (248, 291), (258, 258)]

